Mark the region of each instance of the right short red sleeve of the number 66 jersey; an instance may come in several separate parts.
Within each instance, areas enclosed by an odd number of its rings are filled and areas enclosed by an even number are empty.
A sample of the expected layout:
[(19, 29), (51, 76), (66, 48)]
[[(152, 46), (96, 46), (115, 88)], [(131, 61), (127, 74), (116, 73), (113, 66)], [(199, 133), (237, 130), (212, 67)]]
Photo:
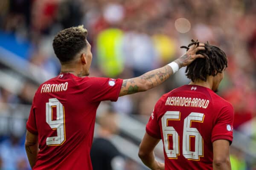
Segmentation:
[(212, 129), (212, 142), (218, 139), (233, 140), (234, 110), (232, 105), (224, 106), (216, 119)]

